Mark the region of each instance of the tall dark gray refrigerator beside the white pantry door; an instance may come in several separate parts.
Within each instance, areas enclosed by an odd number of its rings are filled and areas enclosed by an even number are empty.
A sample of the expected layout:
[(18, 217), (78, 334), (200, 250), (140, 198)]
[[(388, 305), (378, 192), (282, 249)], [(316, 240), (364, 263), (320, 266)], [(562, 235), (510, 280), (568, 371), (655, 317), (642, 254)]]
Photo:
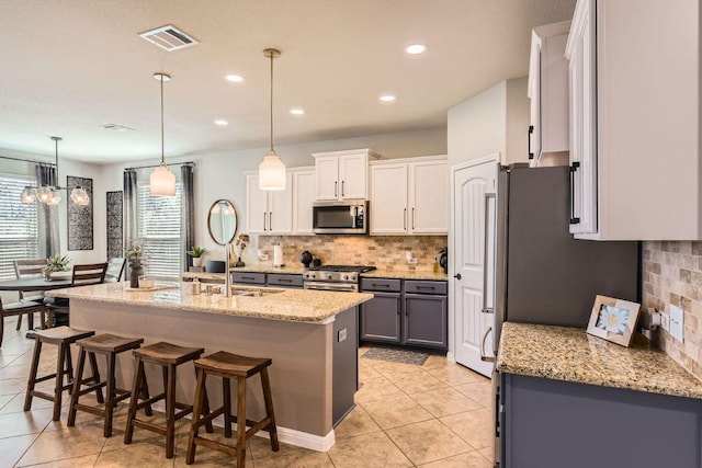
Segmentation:
[[(503, 321), (586, 328), (598, 294), (639, 301), (639, 242), (578, 240), (568, 232), (567, 165), (501, 168), (496, 195), (495, 339), (484, 361), (497, 355)], [(499, 466), (505, 414), (497, 373), (492, 387)]]

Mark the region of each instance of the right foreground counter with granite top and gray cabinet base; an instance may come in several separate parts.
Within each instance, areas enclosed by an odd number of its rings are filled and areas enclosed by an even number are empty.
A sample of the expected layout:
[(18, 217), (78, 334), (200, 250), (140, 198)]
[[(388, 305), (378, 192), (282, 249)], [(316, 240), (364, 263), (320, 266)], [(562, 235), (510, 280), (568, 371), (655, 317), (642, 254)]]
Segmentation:
[(661, 351), (506, 322), (502, 467), (700, 467), (702, 381)]

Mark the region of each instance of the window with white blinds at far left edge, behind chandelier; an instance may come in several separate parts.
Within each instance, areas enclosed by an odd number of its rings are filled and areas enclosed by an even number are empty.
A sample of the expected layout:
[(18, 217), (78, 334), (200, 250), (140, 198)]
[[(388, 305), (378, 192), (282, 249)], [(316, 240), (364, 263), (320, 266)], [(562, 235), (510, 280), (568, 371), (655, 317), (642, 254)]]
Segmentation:
[(20, 202), (27, 184), (36, 182), (21, 175), (0, 174), (0, 279), (15, 277), (13, 261), (39, 256), (36, 203)]

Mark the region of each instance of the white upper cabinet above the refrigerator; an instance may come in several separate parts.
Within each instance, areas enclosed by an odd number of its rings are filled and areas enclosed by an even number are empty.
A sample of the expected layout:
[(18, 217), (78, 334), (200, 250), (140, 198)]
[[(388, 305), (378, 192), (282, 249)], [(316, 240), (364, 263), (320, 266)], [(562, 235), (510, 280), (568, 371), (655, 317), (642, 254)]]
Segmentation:
[[(568, 151), (568, 60), (564, 57), (570, 22), (532, 31), (528, 94), (531, 100), (529, 159), (540, 165), (542, 155)], [(564, 156), (565, 157), (565, 156)]]

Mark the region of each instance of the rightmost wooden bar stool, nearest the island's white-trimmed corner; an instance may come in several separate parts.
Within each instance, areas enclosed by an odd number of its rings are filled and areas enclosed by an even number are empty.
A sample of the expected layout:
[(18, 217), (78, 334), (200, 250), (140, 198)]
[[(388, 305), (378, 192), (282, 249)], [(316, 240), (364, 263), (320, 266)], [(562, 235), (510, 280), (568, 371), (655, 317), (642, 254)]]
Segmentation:
[[(192, 465), (195, 461), (195, 445), (204, 445), (219, 452), (227, 453), (236, 457), (237, 467), (244, 468), (246, 459), (246, 443), (259, 431), (267, 431), (271, 437), (271, 448), (278, 452), (278, 430), (275, 427), (275, 415), (273, 413), (273, 400), (271, 398), (271, 385), (268, 377), (268, 366), (272, 364), (270, 358), (258, 358), (239, 356), (236, 354), (218, 351), (208, 356), (195, 361), (195, 372), (197, 384), (195, 387), (195, 401), (193, 404), (193, 420), (188, 438), (188, 454), (185, 464)], [(263, 400), (265, 403), (265, 416), (261, 421), (246, 419), (246, 380), (247, 378), (260, 374)], [(222, 377), (223, 406), (210, 413), (203, 414), (205, 402), (205, 384), (207, 376)], [(237, 414), (231, 414), (231, 392), (230, 379), (237, 380)], [(219, 414), (224, 414), (225, 437), (231, 437), (231, 424), (237, 424), (237, 443), (231, 447), (219, 442), (200, 437), (197, 430)], [(246, 430), (246, 426), (249, 430)]]

